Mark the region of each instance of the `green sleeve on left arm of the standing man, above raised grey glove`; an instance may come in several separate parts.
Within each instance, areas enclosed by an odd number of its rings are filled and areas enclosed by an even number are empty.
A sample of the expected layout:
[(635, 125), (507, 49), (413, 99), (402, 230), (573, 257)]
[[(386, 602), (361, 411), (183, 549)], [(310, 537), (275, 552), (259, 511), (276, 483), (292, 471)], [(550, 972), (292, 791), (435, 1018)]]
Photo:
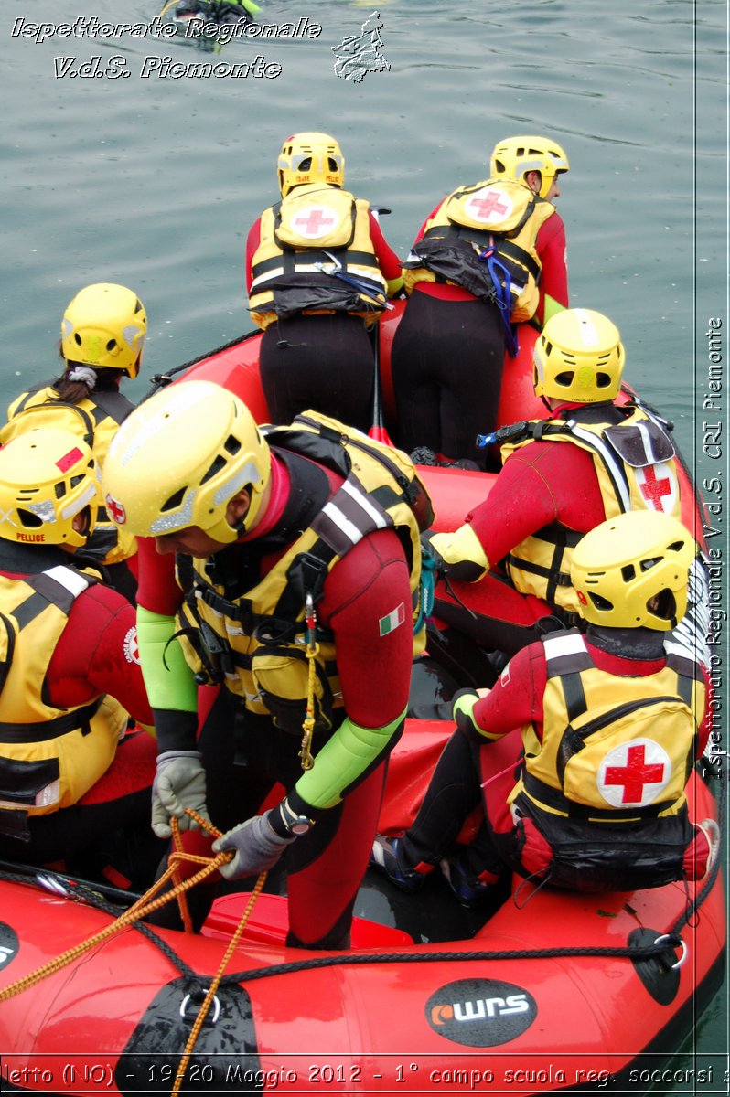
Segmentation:
[(175, 618), (137, 607), (142, 676), (153, 709), (198, 711), (198, 688), (175, 635)]

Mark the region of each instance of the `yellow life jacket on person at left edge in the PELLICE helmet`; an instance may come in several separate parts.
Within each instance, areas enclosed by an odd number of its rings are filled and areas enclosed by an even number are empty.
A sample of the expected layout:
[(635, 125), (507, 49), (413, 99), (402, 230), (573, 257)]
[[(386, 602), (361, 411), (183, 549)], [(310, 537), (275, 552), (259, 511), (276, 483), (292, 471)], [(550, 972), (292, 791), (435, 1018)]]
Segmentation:
[(64, 564), (24, 579), (0, 574), (0, 808), (19, 824), (75, 804), (109, 769), (126, 730), (127, 713), (105, 694), (71, 709), (46, 700), (68, 614), (96, 581)]

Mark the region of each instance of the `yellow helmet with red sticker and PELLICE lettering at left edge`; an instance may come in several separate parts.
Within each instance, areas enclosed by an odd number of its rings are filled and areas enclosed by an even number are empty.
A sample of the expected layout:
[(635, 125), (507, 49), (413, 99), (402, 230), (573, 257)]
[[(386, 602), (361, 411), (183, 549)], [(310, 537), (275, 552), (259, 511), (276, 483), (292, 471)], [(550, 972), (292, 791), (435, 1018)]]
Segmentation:
[[(83, 531), (74, 519), (88, 508)], [(80, 548), (99, 509), (97, 462), (68, 430), (38, 427), (0, 449), (0, 536), (21, 544)]]

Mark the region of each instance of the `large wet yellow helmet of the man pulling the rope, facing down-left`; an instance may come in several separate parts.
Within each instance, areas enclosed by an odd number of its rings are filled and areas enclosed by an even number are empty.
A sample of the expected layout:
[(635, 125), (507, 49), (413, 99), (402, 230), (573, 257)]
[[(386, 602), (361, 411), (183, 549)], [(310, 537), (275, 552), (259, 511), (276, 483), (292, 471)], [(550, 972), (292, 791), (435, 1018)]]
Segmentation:
[(271, 475), (271, 454), (246, 405), (210, 381), (181, 381), (127, 416), (104, 460), (102, 494), (117, 525), (161, 536), (195, 525), (228, 544), (245, 532), (226, 520), (247, 488), (246, 525)]

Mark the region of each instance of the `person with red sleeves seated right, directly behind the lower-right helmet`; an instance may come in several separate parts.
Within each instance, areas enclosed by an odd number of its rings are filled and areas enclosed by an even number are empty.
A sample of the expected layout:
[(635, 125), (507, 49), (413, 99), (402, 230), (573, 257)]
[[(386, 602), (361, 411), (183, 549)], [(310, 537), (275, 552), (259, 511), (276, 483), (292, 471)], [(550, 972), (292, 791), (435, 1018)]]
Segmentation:
[[(588, 530), (634, 509), (682, 519), (667, 425), (640, 402), (615, 403), (624, 361), (606, 316), (585, 308), (553, 316), (535, 344), (534, 371), (550, 418), (498, 431), (504, 465), (488, 496), (456, 532), (430, 536), (450, 585), (437, 587), (435, 614), (488, 651), (514, 655), (548, 629), (579, 622), (570, 565)], [(707, 590), (698, 557), (680, 626), (698, 652)]]

